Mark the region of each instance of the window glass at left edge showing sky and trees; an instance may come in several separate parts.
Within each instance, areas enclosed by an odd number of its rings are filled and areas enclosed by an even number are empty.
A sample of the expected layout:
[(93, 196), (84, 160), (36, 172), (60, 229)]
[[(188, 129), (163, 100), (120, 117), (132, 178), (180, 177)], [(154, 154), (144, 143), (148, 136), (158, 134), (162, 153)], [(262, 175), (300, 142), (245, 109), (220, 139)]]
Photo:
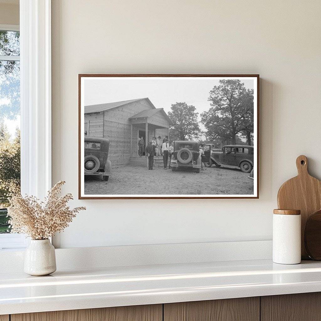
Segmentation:
[(0, 27), (0, 233), (10, 231), (8, 193), (20, 189), (20, 34)]

